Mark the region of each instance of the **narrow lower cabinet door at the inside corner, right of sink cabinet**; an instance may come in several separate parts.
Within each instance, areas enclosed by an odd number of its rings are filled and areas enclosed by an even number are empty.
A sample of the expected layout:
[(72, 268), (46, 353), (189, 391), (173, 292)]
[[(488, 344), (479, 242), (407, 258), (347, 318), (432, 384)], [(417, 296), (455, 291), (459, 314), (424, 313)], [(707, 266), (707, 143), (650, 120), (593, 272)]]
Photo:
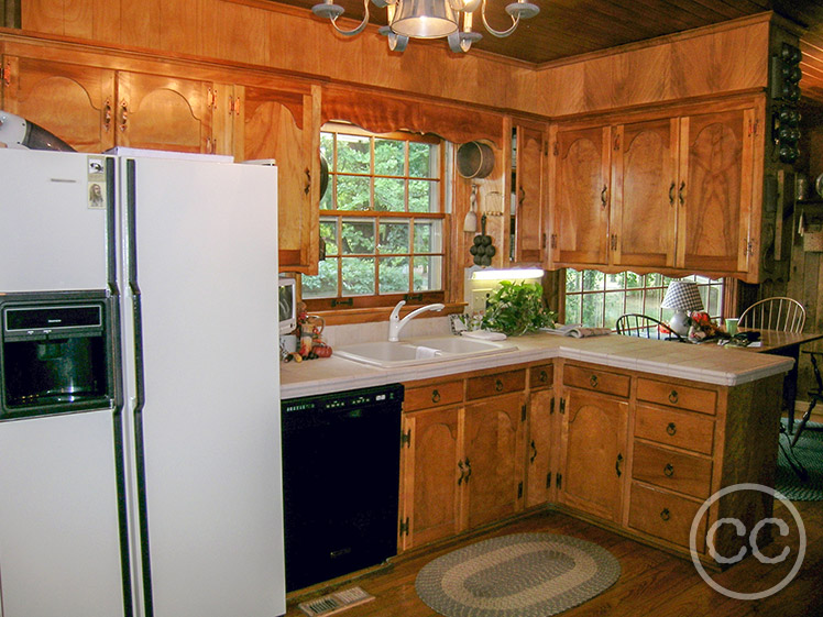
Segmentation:
[(556, 434), (553, 390), (531, 393), (526, 440), (526, 507), (542, 505), (553, 497), (552, 438)]

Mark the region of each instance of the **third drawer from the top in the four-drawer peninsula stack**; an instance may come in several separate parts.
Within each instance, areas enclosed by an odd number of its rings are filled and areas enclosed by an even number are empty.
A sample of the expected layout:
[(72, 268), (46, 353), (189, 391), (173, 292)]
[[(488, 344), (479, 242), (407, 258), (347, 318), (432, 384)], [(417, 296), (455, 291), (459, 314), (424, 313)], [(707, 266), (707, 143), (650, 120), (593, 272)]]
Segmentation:
[(712, 461), (635, 440), (632, 477), (705, 498), (712, 484)]

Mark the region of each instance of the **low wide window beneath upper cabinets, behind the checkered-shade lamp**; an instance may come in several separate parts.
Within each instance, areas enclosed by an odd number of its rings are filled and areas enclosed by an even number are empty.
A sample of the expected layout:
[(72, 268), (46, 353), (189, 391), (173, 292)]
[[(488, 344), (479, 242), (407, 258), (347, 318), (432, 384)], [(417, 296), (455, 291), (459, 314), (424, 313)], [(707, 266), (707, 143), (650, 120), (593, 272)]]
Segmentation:
[[(681, 277), (694, 280), (703, 307), (713, 320), (723, 315), (724, 279), (705, 276)], [(596, 269), (566, 269), (566, 322), (593, 328), (614, 328), (617, 318), (638, 312), (668, 322), (673, 311), (661, 309), (670, 277), (661, 274), (622, 272), (604, 274)]]

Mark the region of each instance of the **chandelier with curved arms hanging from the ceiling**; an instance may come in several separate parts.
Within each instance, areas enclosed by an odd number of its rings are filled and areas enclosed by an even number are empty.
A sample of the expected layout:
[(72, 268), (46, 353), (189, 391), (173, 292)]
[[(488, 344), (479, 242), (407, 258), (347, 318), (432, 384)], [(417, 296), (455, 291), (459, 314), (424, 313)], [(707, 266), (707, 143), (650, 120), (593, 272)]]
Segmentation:
[[(517, 0), (506, 7), (506, 12), (512, 18), (512, 25), (507, 30), (494, 30), (486, 21), (487, 0), (371, 0), (377, 8), (387, 11), (388, 25), (382, 26), (377, 32), (388, 37), (388, 48), (393, 52), (403, 52), (408, 45), (409, 38), (442, 38), (449, 41), (452, 52), (468, 52), (472, 43), (480, 41), (483, 35), (472, 32), (472, 18), (480, 9), (480, 16), (486, 31), (497, 37), (512, 34), (520, 19), (534, 18), (540, 12), (537, 4), (527, 0)], [(337, 19), (343, 13), (340, 4), (334, 0), (323, 0), (321, 4), (315, 4), (311, 11), (325, 19), (331, 20), (340, 34), (354, 36), (365, 30), (369, 23), (369, 2), (363, 0), (363, 21), (353, 30), (342, 30), (337, 24)], [(462, 22), (462, 26), (461, 26)]]

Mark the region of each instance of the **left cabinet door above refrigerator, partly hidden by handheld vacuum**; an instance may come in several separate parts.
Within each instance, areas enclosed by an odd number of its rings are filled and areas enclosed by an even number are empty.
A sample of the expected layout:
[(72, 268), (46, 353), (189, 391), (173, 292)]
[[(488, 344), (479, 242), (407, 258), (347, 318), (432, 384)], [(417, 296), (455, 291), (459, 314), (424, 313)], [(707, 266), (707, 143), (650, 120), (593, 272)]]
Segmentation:
[(114, 145), (114, 71), (6, 56), (2, 109), (62, 139), (80, 152)]

